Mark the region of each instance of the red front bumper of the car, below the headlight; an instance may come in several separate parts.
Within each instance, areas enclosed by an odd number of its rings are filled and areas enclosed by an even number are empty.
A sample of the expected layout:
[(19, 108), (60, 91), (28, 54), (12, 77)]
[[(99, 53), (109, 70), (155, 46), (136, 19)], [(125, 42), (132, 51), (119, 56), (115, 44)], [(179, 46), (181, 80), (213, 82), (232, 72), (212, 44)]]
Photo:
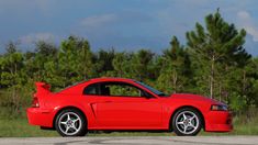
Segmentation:
[(228, 111), (210, 111), (205, 115), (206, 132), (231, 132), (233, 116)]

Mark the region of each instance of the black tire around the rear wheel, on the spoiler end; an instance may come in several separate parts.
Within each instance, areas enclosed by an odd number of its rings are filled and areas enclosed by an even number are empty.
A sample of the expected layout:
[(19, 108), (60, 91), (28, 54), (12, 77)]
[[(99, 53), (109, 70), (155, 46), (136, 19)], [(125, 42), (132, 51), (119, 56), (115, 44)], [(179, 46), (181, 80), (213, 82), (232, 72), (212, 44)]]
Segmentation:
[[(63, 133), (59, 129), (59, 125), (58, 125), (60, 116), (64, 113), (67, 113), (67, 112), (76, 113), (81, 120), (80, 131), (78, 133), (74, 134), (74, 135), (67, 135), (67, 134)], [(61, 136), (85, 136), (86, 133), (87, 133), (87, 122), (86, 122), (86, 119), (85, 119), (83, 114), (80, 111), (75, 110), (75, 109), (66, 109), (66, 110), (63, 110), (61, 112), (59, 112), (57, 114), (56, 120), (55, 120), (55, 129)]]

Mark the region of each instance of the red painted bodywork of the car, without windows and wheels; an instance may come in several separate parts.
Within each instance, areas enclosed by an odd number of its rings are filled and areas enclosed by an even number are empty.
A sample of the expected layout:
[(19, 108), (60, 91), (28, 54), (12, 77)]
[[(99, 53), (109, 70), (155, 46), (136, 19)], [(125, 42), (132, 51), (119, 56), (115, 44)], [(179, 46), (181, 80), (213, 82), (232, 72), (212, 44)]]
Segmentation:
[[(94, 82), (126, 82), (145, 90), (154, 98), (83, 96), (83, 89)], [(87, 116), (89, 130), (169, 130), (170, 119), (175, 111), (182, 107), (192, 107), (201, 112), (204, 130), (209, 132), (228, 132), (233, 129), (228, 111), (211, 111), (212, 104), (221, 104), (212, 99), (197, 94), (175, 93), (159, 97), (147, 88), (123, 78), (98, 78), (51, 92), (49, 86), (36, 82), (40, 108), (29, 108), (29, 123), (53, 127), (56, 114), (64, 108), (72, 107)]]

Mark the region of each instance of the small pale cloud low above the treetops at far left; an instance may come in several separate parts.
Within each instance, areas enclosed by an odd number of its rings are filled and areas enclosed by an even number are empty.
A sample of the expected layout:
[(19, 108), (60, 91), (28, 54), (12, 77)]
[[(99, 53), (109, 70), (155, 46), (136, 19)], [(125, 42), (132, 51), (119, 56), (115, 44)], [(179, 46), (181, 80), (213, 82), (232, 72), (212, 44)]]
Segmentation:
[(32, 44), (37, 41), (54, 42), (57, 36), (52, 33), (32, 33), (25, 36), (21, 36), (19, 40), (22, 44)]

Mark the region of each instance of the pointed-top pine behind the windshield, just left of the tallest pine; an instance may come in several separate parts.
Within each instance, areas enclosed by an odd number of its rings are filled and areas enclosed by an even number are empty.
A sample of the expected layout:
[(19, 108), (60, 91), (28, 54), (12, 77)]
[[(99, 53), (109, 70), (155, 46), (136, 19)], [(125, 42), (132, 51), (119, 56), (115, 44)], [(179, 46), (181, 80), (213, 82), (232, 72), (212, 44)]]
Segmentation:
[(171, 47), (164, 52), (162, 68), (158, 77), (158, 82), (165, 87), (160, 89), (172, 90), (176, 93), (186, 91), (190, 60), (187, 52), (176, 36), (172, 37), (170, 45)]

